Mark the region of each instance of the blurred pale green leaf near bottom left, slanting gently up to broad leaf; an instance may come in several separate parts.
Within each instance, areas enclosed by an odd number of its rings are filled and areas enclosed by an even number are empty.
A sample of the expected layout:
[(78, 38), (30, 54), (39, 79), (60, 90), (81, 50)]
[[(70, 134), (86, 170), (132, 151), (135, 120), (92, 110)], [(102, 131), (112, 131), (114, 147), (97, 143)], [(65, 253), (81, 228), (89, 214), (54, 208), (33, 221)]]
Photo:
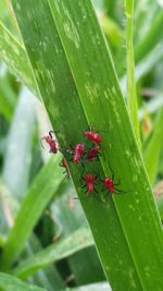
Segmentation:
[(34, 257), (24, 260), (23, 264), (14, 270), (14, 275), (20, 278), (26, 278), (38, 269), (71, 256), (92, 244), (93, 241), (90, 232), (87, 229), (80, 228), (66, 239), (46, 247)]

